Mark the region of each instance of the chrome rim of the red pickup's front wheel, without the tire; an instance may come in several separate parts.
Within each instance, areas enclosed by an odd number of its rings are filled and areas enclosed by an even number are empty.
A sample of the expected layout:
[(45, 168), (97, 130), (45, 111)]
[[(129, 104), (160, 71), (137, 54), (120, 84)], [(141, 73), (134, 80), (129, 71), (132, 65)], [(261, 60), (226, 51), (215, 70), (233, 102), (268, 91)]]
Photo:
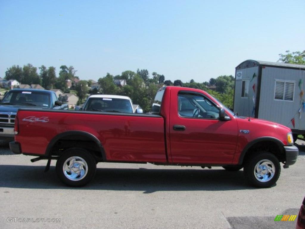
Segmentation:
[(260, 160), (254, 166), (254, 176), (260, 182), (268, 182), (275, 173), (275, 166), (273, 162), (267, 159)]

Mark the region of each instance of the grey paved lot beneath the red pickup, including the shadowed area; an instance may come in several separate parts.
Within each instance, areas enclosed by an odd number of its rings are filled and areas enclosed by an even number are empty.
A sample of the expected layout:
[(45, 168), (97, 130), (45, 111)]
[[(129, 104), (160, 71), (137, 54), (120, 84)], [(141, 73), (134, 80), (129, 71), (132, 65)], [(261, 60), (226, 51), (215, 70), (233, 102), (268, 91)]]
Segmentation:
[(297, 215), (304, 198), (305, 143), (297, 144), (298, 161), (267, 189), (221, 167), (117, 163), (99, 163), (89, 185), (70, 188), (58, 180), (55, 162), (44, 173), (46, 161), (0, 147), (1, 228), (294, 228), (274, 218)]

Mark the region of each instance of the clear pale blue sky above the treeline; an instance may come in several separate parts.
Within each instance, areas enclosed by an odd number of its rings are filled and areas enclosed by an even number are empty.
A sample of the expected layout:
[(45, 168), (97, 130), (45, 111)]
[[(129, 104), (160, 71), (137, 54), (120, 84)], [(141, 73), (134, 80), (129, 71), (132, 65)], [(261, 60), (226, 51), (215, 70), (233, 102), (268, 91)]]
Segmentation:
[(304, 0), (1, 1), (0, 77), (31, 63), (57, 75), (73, 65), (87, 80), (139, 68), (204, 82), (305, 50), (304, 10)]

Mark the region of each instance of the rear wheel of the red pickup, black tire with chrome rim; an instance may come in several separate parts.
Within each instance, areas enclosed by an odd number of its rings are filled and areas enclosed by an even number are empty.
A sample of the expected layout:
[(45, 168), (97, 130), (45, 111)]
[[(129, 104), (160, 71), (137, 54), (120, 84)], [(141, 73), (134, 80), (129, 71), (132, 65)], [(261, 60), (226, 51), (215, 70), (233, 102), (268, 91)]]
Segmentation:
[[(74, 158), (75, 161), (77, 162), (77, 163), (75, 163), (75, 165), (76, 165), (75, 168), (77, 169), (78, 167), (81, 166), (81, 168), (83, 168), (83, 169), (80, 169), (80, 170), (84, 174), (83, 175), (79, 174), (75, 178), (70, 177), (70, 179), (69, 179), (68, 177), (72, 176), (73, 174), (70, 173), (69, 171), (64, 172), (63, 166), (64, 166), (64, 164), (66, 164), (69, 168), (71, 161), (69, 160), (68, 162), (66, 162), (66, 160), (68, 160), (69, 158), (73, 159), (73, 157), (77, 157), (77, 158)], [(96, 170), (95, 159), (87, 150), (81, 149), (81, 148), (67, 149), (66, 151), (64, 151), (61, 154), (61, 156), (59, 157), (59, 159), (56, 162), (57, 176), (64, 184), (71, 186), (71, 187), (81, 187), (81, 186), (88, 184), (94, 177), (95, 170)], [(79, 172), (79, 170), (77, 172)], [(77, 173), (74, 173), (74, 174), (77, 175)], [(83, 176), (83, 177), (81, 177), (81, 176)]]

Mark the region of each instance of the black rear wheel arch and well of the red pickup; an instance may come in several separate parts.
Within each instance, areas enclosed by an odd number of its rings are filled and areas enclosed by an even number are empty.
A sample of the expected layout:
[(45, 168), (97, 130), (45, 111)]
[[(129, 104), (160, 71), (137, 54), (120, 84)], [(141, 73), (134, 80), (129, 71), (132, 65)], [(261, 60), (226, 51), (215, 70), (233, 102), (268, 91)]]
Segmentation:
[(99, 139), (91, 133), (79, 130), (66, 131), (55, 136), (46, 148), (45, 157), (50, 158), (71, 147), (84, 148), (93, 152), (98, 161), (106, 161), (106, 153)]

